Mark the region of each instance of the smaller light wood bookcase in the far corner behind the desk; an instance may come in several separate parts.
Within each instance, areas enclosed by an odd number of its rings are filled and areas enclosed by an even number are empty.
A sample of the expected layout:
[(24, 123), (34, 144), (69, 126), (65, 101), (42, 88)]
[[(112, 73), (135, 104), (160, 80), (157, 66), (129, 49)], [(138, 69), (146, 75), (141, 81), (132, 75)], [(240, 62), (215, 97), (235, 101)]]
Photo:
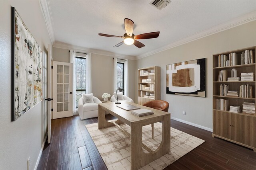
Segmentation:
[[(154, 74), (140, 75), (140, 72), (142, 70), (148, 71), (148, 72), (150, 72), (151, 70), (154, 70)], [(142, 83), (142, 79), (152, 79), (154, 80), (154, 82)], [(154, 90), (141, 89), (141, 85), (146, 85), (147, 87), (149, 87), (150, 84), (154, 85)], [(152, 67), (138, 69), (138, 104), (143, 105), (144, 103), (149, 102), (151, 100), (160, 100), (161, 99), (160, 88), (161, 88), (161, 67), (152, 66)], [(149, 92), (150, 94), (154, 94), (155, 95), (154, 99), (143, 97), (146, 94), (146, 92)]]

